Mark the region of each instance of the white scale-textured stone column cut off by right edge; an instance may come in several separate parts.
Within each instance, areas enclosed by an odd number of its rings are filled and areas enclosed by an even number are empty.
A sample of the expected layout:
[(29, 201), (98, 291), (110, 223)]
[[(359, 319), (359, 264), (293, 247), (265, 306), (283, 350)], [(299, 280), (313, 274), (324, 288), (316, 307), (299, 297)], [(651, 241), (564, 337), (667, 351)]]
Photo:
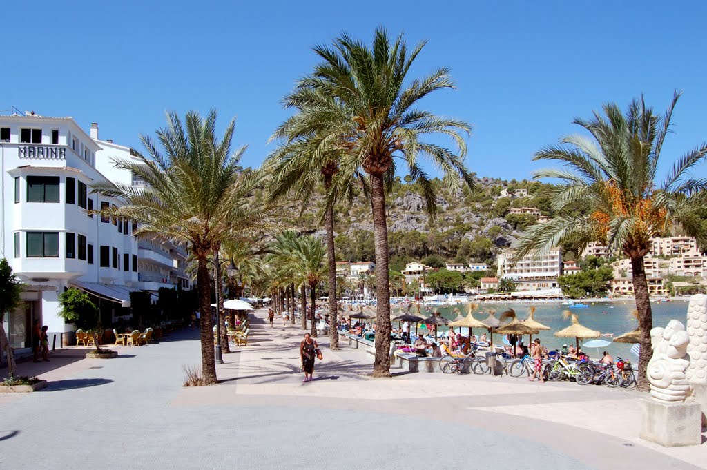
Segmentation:
[(693, 295), (687, 307), (687, 354), (690, 365), (686, 378), (693, 384), (707, 384), (707, 295)]

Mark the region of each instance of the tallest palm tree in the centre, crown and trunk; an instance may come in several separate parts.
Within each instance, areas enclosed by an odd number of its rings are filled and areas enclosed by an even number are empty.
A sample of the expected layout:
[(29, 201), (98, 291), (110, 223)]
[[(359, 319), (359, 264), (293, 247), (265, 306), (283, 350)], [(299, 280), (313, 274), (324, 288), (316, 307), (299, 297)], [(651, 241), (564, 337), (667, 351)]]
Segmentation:
[[(445, 187), (456, 191), (462, 183), (472, 184), (464, 168), (466, 144), (462, 133), (469, 124), (438, 117), (414, 106), (430, 93), (454, 88), (449, 69), (438, 69), (406, 85), (407, 74), (424, 43), (408, 50), (402, 35), (390, 41), (378, 28), (368, 47), (349, 35), (341, 35), (332, 47), (318, 45), (322, 59), (314, 72), (301, 79), (286, 97), (301, 116), (291, 138), (310, 140), (322, 152), (339, 151), (339, 169), (332, 179), (332, 194), (351, 186), (358, 172), (366, 173), (370, 184), (375, 264), (377, 317), (375, 335), (375, 377), (390, 377), (390, 287), (388, 284), (388, 243), (385, 194), (395, 182), (394, 158), (407, 165), (420, 185), (427, 204), (436, 211), (436, 194), (431, 179), (420, 166), (428, 158), (443, 172)], [(420, 140), (426, 134), (444, 134), (455, 142), (459, 155), (435, 143)]]

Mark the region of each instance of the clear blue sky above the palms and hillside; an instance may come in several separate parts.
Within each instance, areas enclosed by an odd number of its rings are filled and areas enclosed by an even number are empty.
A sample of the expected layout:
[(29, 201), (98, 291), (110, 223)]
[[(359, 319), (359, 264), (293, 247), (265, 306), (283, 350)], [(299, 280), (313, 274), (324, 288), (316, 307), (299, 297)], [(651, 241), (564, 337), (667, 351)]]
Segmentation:
[[(670, 6), (667, 6), (670, 5)], [(236, 117), (243, 160), (257, 166), (287, 115), (281, 98), (342, 31), (370, 40), (384, 25), (428, 40), (411, 70), (450, 66), (458, 90), (423, 105), (467, 120), (467, 166), (522, 179), (541, 146), (607, 101), (645, 94), (658, 110), (684, 91), (666, 161), (707, 139), (703, 2), (569, 1), (21, 1), (3, 6), (0, 110), (73, 116), (101, 139), (141, 150), (165, 110), (216, 107)], [(707, 165), (695, 171), (707, 176)]]

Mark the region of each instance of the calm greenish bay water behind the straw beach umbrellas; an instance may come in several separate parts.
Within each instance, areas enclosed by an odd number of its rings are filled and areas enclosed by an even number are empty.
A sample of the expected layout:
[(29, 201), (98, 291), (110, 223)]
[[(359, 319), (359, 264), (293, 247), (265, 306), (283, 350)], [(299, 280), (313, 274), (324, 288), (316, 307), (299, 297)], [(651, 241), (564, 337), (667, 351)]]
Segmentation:
[[(678, 319), (681, 322), (686, 321), (687, 313), (686, 300), (671, 300), (670, 302), (650, 302), (651, 310), (653, 311), (653, 326), (654, 327), (665, 327), (667, 322), (671, 319)], [(636, 308), (636, 303), (633, 300), (619, 300), (614, 302), (588, 302), (588, 307), (583, 308), (573, 308), (568, 305), (561, 305), (560, 302), (539, 302), (537, 304), (532, 303), (481, 303), (477, 310), (474, 311), (473, 315), (479, 320), (483, 320), (488, 316), (489, 309), (496, 310), (496, 318), (501, 317), (503, 311), (508, 310), (508, 308), (513, 308), (515, 310), (515, 315), (519, 320), (524, 320), (528, 317), (529, 308), (531, 305), (536, 307), (534, 319), (537, 322), (550, 327), (549, 330), (540, 331), (539, 334), (534, 335), (534, 338), (539, 338), (542, 345), (547, 347), (549, 350), (556, 348), (561, 348), (563, 344), (574, 344), (574, 338), (558, 338), (554, 336), (556, 331), (570, 326), (571, 320), (562, 319), (563, 310), (570, 310), (579, 317), (580, 324), (585, 327), (600, 331), (602, 334), (610, 333), (614, 334), (614, 337), (624, 334), (628, 331), (633, 331), (638, 328), (638, 321), (631, 315), (631, 311)], [(443, 317), (452, 320), (458, 315), (458, 312), (453, 310), (457, 308), (460, 310), (462, 315), (466, 316), (468, 313), (467, 304), (460, 305), (440, 305), (440, 306), (426, 306), (423, 308), (422, 312), (426, 315), (431, 315), (431, 312), (440, 312)], [(428, 310), (427, 310), (428, 309)], [(396, 325), (397, 326), (397, 325)], [(413, 325), (414, 328), (414, 325)], [(444, 331), (447, 331), (447, 327), (440, 327), (438, 329), (438, 334), (441, 336)], [(459, 329), (457, 328), (457, 333)], [(424, 331), (424, 330), (421, 330)], [(474, 329), (473, 333), (477, 336), (481, 336), (486, 332), (486, 329)], [(461, 333), (466, 336), (467, 329), (462, 328)], [(527, 344), (528, 336), (523, 336), (523, 341)], [(597, 339), (604, 339), (606, 341), (611, 341), (608, 346), (603, 348), (583, 348), (585, 353), (588, 353), (592, 358), (601, 357), (603, 351), (609, 352), (614, 358), (616, 356), (621, 356), (624, 359), (631, 360), (633, 363), (638, 363), (638, 358), (631, 353), (631, 344), (626, 343), (614, 343), (613, 338), (607, 336), (600, 336)], [(585, 341), (590, 341), (586, 339)], [(582, 347), (583, 340), (580, 339), (580, 348)], [(493, 335), (494, 345), (503, 345), (503, 335), (494, 334)]]

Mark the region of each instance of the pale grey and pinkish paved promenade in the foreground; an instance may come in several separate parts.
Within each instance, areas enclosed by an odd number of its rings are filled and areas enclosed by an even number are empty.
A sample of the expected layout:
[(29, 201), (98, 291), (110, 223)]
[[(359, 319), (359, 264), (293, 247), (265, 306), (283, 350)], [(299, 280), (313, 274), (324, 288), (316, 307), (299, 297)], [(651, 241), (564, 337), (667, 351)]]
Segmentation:
[(214, 387), (182, 387), (182, 366), (199, 363), (189, 330), (110, 360), (67, 348), (21, 363), (50, 385), (0, 394), (0, 469), (707, 468), (707, 444), (639, 440), (642, 395), (622, 389), (395, 369), (374, 380), (372, 356), (326, 339), (303, 383), (302, 331), (264, 316)]

